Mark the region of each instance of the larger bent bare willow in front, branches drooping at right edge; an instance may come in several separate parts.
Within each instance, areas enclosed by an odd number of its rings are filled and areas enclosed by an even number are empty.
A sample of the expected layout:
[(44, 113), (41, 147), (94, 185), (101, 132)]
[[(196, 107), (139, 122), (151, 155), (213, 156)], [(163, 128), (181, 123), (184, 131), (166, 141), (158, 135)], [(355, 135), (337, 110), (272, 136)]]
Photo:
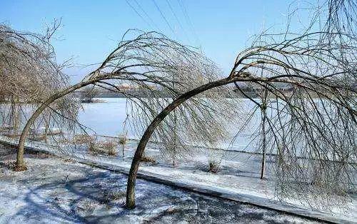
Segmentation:
[[(131, 163), (128, 208), (135, 207), (141, 156), (160, 123), (172, 111), (183, 110), (182, 103), (197, 94), (229, 83), (236, 83), (238, 91), (256, 107), (270, 111), (263, 116), (264, 142), (276, 153), (280, 197), (334, 205), (346, 200), (348, 192), (356, 192), (357, 6), (353, 1), (337, 4), (331, 0), (323, 7), (313, 15), (326, 16), (324, 26), (316, 26), (322, 20), (315, 16), (303, 32), (258, 36), (251, 47), (238, 54), (228, 77), (183, 93), (151, 121)], [(274, 101), (263, 105), (238, 83), (260, 86)], [(289, 90), (276, 84), (289, 86)]]

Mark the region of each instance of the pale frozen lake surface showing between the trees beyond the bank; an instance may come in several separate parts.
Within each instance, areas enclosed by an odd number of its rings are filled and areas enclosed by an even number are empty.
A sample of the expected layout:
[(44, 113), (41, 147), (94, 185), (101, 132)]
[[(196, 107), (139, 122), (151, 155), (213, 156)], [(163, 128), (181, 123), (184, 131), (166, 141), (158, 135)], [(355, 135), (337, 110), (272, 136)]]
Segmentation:
[[(126, 98), (96, 98), (101, 103), (82, 103), (82, 108), (79, 111), (78, 120), (84, 126), (93, 130), (97, 135), (102, 136), (119, 136), (127, 131), (128, 138), (140, 139), (141, 135), (135, 134), (127, 126), (126, 131), (123, 130), (124, 121), (126, 119)], [(228, 99), (227, 99), (228, 100)], [(253, 108), (253, 102), (249, 99), (241, 99), (241, 111), (249, 111)], [(9, 106), (9, 105), (8, 105)], [(10, 107), (9, 107), (10, 109)], [(21, 111), (21, 123), (20, 127), (24, 126), (24, 122), (29, 119), (32, 110), (29, 108), (22, 108)], [(8, 119), (8, 113), (0, 116), (0, 121), (3, 126), (11, 126), (7, 124), (8, 122), (2, 121), (2, 119)], [(218, 148), (231, 149), (234, 151), (258, 151), (258, 141), (259, 139), (251, 140), (248, 136), (249, 131), (255, 130), (261, 121), (260, 111), (254, 114), (251, 123), (246, 126), (246, 130), (243, 131), (239, 136), (236, 136), (240, 125), (238, 123), (231, 123), (231, 128), (229, 128), (229, 138), (221, 141)], [(44, 128), (44, 124), (40, 124), (39, 128)], [(89, 134), (94, 134), (92, 131), (88, 131)], [(235, 137), (236, 136), (236, 137)], [(234, 138), (235, 137), (235, 138)], [(234, 141), (231, 143), (231, 141)]]

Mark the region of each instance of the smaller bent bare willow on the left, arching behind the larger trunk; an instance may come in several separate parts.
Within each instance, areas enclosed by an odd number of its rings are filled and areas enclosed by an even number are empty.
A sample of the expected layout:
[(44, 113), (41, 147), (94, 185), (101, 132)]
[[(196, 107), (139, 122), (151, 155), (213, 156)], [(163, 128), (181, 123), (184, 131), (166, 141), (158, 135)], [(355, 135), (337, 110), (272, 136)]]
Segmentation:
[[(129, 35), (138, 35), (129, 39)], [(218, 78), (219, 70), (214, 63), (205, 56), (198, 54), (196, 49), (178, 44), (156, 32), (143, 33), (129, 31), (119, 46), (94, 71), (89, 73), (84, 80), (73, 86), (59, 89), (56, 93), (41, 102), (39, 108), (31, 115), (24, 126), (19, 139), (16, 169), (24, 170), (24, 143), (29, 134), (31, 125), (36, 121), (51, 103), (58, 101), (69, 93), (94, 85), (108, 91), (124, 94), (131, 104), (131, 126), (134, 131), (141, 133), (156, 116), (157, 112), (176, 98), (186, 92), (191, 86), (200, 86), (210, 80)], [(135, 86), (139, 91), (122, 91), (119, 88), (123, 83)], [(187, 148), (187, 133), (192, 133), (193, 138), (205, 146), (215, 143), (226, 133), (226, 127), (220, 122), (233, 121), (233, 115), (226, 113), (230, 105), (222, 105), (221, 96), (225, 91), (207, 92), (206, 98), (196, 99), (186, 103), (186, 110), (176, 114), (183, 130), (178, 131), (176, 148)], [(145, 96), (145, 97), (143, 97)], [(211, 111), (221, 111), (218, 116), (213, 116)], [(172, 121), (172, 120), (171, 120)], [(169, 132), (174, 128), (169, 121), (162, 126), (156, 138), (161, 141), (164, 151), (169, 147), (171, 138)], [(206, 121), (210, 121), (207, 123)], [(203, 133), (203, 135), (201, 135)], [(218, 134), (217, 134), (218, 133)], [(186, 138), (185, 138), (186, 137)]]

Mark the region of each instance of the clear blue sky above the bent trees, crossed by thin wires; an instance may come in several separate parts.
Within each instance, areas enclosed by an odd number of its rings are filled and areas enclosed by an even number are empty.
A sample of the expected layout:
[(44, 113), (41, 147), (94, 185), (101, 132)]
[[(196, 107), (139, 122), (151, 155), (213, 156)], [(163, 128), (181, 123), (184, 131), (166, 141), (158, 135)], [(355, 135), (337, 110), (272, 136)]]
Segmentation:
[(73, 82), (90, 70), (79, 66), (102, 61), (128, 29), (161, 31), (183, 44), (199, 46), (228, 73), (249, 36), (286, 22), (290, 2), (1, 0), (0, 22), (16, 30), (41, 31), (61, 18), (59, 40), (53, 44), (59, 62), (74, 58), (76, 67), (66, 69)]

